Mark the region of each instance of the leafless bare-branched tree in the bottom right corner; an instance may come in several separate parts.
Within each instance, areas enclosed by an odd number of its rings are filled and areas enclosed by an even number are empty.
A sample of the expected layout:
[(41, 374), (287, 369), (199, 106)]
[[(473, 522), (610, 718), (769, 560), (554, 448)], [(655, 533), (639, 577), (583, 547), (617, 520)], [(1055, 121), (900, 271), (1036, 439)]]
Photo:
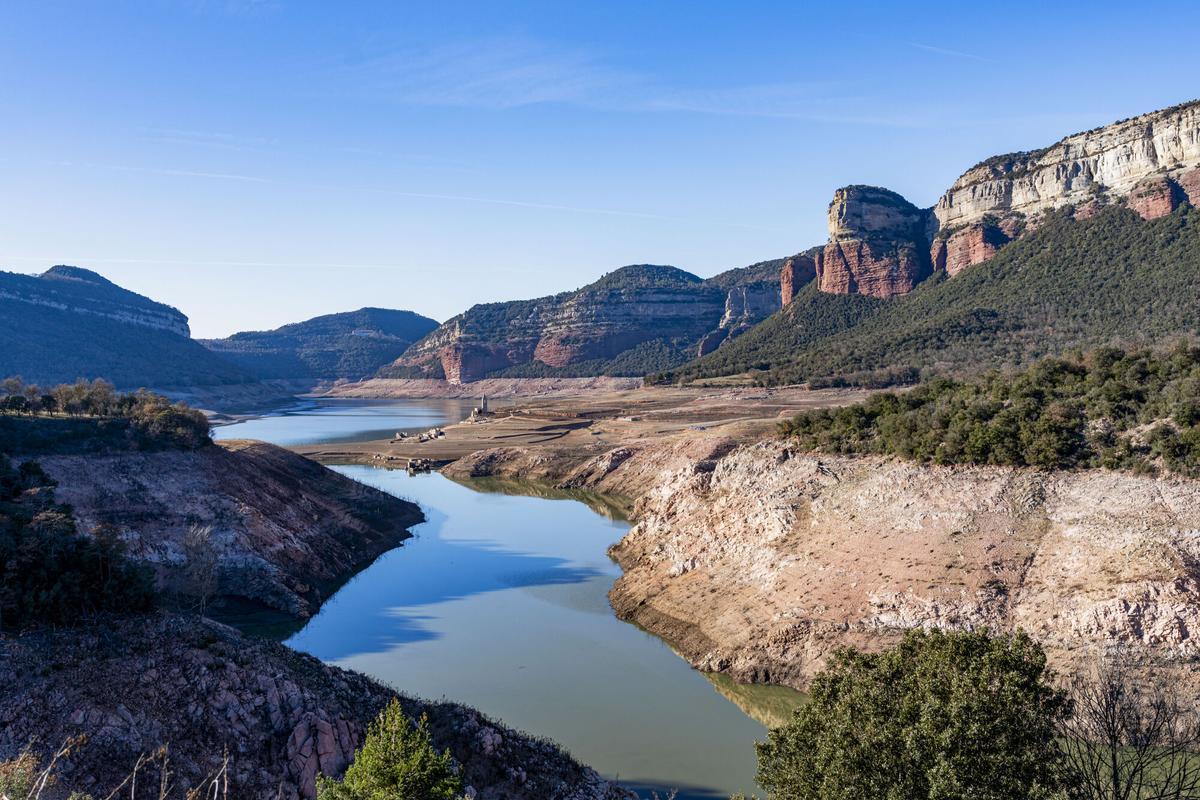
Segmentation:
[(1105, 657), (1073, 699), (1061, 746), (1079, 796), (1200, 798), (1200, 716), (1176, 686), (1135, 675), (1126, 656)]

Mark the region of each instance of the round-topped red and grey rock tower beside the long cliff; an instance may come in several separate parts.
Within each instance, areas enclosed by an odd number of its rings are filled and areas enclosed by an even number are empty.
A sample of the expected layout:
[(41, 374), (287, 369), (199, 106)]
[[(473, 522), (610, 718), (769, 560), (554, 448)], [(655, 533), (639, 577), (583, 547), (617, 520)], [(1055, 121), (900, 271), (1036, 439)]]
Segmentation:
[(932, 272), (928, 212), (895, 192), (847, 186), (829, 204), (829, 243), (816, 260), (817, 285), (832, 294), (890, 297)]

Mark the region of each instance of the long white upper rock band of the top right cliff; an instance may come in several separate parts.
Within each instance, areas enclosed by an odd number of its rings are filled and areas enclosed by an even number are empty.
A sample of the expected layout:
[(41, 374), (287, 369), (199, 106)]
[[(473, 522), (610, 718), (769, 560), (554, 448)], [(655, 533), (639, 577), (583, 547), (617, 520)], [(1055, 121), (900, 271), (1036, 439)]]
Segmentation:
[(1046, 148), (998, 156), (967, 170), (937, 201), (942, 228), (985, 215), (1033, 215), (1096, 194), (1127, 196), (1154, 175), (1200, 166), (1200, 102), (1135, 116)]

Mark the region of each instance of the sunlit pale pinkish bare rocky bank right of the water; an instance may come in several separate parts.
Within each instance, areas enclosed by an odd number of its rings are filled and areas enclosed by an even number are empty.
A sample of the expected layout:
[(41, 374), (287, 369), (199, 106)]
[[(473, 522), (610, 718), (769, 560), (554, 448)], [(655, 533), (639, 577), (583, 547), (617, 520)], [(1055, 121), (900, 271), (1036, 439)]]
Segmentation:
[(612, 551), (625, 571), (613, 608), (742, 681), (804, 687), (834, 648), (923, 626), (1021, 627), (1060, 668), (1122, 646), (1190, 680), (1200, 656), (1195, 481), (817, 458), (720, 437), (574, 461), (504, 449), (446, 471), (637, 498)]

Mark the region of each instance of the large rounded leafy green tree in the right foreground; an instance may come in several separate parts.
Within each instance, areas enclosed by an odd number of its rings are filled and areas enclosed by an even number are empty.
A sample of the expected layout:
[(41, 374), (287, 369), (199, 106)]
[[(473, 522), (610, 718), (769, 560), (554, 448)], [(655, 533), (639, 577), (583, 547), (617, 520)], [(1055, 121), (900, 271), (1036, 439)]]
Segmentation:
[(811, 700), (758, 750), (773, 800), (1031, 800), (1060, 795), (1068, 709), (1025, 633), (914, 631), (834, 654)]

